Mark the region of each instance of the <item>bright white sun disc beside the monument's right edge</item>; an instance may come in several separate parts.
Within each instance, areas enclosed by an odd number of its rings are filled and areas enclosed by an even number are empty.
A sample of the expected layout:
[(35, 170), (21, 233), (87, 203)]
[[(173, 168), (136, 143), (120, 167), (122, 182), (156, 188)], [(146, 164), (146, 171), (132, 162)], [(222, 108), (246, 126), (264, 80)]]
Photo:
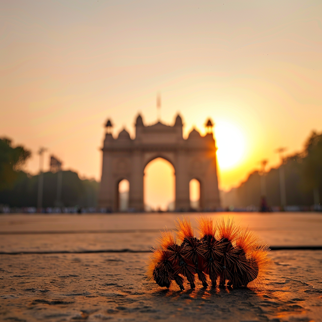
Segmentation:
[(238, 126), (218, 120), (215, 125), (217, 161), (220, 170), (231, 169), (245, 154), (245, 138)]

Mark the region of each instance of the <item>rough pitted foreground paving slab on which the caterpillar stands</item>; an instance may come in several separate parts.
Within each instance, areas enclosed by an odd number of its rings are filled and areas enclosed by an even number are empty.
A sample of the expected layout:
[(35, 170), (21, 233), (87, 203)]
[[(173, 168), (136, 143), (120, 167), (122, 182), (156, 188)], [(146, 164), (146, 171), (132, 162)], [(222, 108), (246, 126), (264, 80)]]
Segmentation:
[(146, 253), (0, 255), (3, 321), (322, 321), (322, 251), (272, 251), (254, 289), (161, 289)]

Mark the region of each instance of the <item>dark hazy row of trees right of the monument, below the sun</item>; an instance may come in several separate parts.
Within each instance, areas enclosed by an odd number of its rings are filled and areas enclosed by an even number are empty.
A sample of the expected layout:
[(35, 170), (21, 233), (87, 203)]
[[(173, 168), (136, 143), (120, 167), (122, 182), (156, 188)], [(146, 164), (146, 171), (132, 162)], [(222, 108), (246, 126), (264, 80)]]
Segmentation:
[[(322, 133), (313, 131), (303, 151), (283, 159), (287, 205), (311, 206), (322, 202)], [(282, 206), (280, 166), (265, 173), (266, 200), (270, 206)], [(239, 187), (223, 193), (223, 205), (260, 206), (262, 198), (260, 171), (252, 172)]]

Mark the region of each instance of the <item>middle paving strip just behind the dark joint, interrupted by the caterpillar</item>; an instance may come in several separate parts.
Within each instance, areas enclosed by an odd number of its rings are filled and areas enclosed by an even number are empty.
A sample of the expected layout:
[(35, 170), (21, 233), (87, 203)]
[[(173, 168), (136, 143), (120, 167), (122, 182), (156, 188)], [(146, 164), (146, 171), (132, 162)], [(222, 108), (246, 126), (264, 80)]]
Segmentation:
[[(320, 231), (259, 232), (261, 240), (270, 246), (321, 246)], [(0, 234), (0, 252), (83, 252), (83, 251), (149, 251), (156, 245), (160, 232), (128, 233), (55, 233)]]

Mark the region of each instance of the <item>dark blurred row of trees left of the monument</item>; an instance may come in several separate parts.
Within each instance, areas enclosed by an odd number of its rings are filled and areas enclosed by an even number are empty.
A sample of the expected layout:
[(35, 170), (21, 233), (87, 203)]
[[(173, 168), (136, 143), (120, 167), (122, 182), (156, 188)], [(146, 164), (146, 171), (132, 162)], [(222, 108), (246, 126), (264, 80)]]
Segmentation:
[[(0, 204), (9, 207), (36, 207), (39, 175), (22, 170), (31, 152), (12, 141), (0, 139)], [(57, 201), (58, 172), (43, 173), (43, 207), (54, 207)], [(61, 203), (65, 207), (95, 207), (99, 183), (81, 180), (77, 173), (62, 171)]]

